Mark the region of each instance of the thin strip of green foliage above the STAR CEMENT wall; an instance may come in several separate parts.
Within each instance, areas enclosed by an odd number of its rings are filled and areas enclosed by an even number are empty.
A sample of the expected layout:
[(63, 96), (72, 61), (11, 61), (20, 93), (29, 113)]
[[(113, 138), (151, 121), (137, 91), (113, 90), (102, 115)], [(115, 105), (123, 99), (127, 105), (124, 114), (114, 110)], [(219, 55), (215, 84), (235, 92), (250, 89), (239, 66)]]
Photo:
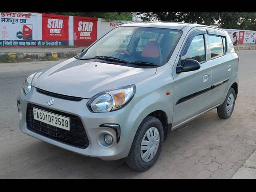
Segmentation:
[(83, 16), (83, 17), (97, 17), (103, 18), (106, 20), (132, 20), (132, 13), (124, 13), (124, 12), (105, 12), (105, 13), (92, 13), (92, 12), (61, 12), (61, 13), (49, 13), (49, 14), (60, 14), (60, 15), (71, 15), (71, 16)]

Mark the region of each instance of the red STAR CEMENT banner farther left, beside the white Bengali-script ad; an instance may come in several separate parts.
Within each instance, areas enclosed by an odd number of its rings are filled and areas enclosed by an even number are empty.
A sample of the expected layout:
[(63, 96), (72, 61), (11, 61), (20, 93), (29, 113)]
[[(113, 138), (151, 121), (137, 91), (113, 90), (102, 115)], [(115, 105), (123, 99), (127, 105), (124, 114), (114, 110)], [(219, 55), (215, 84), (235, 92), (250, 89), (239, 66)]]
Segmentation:
[(42, 14), (42, 40), (68, 42), (69, 16)]

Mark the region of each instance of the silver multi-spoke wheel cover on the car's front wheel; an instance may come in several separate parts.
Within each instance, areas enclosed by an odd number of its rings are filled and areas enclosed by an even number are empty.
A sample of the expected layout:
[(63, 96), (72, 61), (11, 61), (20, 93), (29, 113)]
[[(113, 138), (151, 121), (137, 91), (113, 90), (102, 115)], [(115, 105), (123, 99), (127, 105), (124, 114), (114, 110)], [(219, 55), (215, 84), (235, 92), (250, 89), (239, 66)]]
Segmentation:
[(140, 144), (140, 156), (144, 162), (151, 161), (158, 150), (160, 135), (158, 129), (151, 127), (144, 134)]

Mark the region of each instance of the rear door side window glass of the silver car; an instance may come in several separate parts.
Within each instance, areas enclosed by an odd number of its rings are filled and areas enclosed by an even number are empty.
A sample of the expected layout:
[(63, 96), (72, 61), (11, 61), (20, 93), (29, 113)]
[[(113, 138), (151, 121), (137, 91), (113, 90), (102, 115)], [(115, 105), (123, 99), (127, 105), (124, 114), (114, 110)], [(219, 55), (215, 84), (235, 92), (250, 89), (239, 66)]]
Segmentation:
[(209, 45), (210, 45), (212, 58), (218, 57), (218, 56), (224, 54), (224, 48), (223, 48), (221, 36), (209, 35), (208, 39), (209, 39)]

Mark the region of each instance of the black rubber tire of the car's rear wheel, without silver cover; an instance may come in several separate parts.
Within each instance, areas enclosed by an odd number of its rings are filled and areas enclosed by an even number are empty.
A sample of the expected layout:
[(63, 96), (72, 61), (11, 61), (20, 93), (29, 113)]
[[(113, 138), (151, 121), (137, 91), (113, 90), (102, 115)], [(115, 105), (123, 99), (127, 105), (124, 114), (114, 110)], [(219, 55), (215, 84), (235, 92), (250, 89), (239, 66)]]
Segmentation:
[[(233, 102), (233, 108), (232, 108), (232, 110), (228, 113), (228, 112), (227, 112), (227, 102), (228, 102), (228, 97), (230, 96), (230, 94), (233, 94), (233, 96), (234, 96), (234, 102)], [(234, 90), (233, 88), (230, 88), (230, 89), (228, 90), (228, 94), (227, 94), (227, 96), (226, 96), (225, 101), (222, 103), (221, 106), (219, 106), (219, 107), (217, 108), (218, 116), (219, 116), (220, 118), (222, 118), (222, 119), (228, 119), (228, 118), (230, 118), (230, 116), (231, 116), (232, 113), (233, 113), (234, 107), (235, 107), (235, 101), (236, 101), (236, 92), (235, 92), (235, 90)]]

